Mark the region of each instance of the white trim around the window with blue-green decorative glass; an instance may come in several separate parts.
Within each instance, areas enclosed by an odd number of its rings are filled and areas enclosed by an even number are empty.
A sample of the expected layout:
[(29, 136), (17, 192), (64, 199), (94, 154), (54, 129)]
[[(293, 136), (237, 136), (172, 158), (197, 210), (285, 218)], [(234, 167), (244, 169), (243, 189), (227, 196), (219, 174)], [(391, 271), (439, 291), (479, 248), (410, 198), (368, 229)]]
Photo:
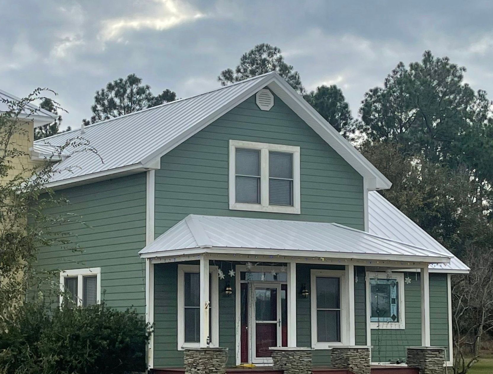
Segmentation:
[(406, 308), (404, 294), (404, 273), (392, 272), (390, 279), (397, 280), (398, 288), (398, 306), (399, 306), (399, 321), (398, 322), (371, 322), (371, 279), (387, 279), (387, 273), (384, 272), (366, 272), (366, 314), (370, 329), (372, 330), (405, 330), (406, 329)]

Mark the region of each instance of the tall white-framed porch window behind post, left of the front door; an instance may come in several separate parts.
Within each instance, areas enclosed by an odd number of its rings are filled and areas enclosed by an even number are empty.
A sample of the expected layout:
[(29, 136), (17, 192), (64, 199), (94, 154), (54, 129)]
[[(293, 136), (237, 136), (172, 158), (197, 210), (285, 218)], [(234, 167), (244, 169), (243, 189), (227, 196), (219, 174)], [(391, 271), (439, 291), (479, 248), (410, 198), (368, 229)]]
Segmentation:
[[(211, 346), (217, 346), (218, 277), (217, 267), (210, 266), (209, 277), (209, 335)], [(197, 265), (178, 265), (178, 350), (198, 347), (200, 343), (200, 273)]]

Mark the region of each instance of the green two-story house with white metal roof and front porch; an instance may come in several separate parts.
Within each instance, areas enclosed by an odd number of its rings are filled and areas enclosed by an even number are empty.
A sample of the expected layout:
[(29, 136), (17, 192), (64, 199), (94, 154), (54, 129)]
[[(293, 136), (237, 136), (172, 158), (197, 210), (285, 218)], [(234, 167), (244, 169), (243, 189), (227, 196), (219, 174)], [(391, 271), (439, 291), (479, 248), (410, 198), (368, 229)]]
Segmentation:
[(229, 366), (269, 364), (270, 346), (313, 347), (320, 366), (355, 345), (375, 363), (418, 345), (452, 360), (450, 275), (468, 268), (277, 74), (83, 131), (103, 161), (75, 154), (49, 184), (70, 200), (53, 213), (82, 216), (67, 230), (83, 252), (43, 248), (39, 266), (64, 269), (81, 306), (145, 313), (150, 368), (208, 342)]

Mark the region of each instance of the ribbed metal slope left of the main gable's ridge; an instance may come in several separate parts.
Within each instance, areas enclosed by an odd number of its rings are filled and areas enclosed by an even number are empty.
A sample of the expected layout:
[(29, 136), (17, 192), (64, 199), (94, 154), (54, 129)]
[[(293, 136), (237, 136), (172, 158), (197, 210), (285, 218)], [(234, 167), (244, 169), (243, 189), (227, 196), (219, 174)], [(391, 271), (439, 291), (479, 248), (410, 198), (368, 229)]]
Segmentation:
[(83, 130), (45, 138), (44, 142), (62, 146), (68, 140), (80, 137), (98, 152), (98, 155), (90, 152), (72, 154), (57, 165), (60, 172), (54, 174), (51, 182), (139, 164), (223, 108), (232, 97), (248, 91), (265, 78), (269, 77), (258, 76), (205, 94), (88, 125)]

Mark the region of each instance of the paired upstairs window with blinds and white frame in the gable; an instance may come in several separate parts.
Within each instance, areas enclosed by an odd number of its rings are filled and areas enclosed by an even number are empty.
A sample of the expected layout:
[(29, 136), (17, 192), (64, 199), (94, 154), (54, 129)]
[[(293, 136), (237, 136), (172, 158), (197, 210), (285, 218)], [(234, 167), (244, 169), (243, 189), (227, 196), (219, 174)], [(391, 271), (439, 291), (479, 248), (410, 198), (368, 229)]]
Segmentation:
[(229, 209), (300, 214), (300, 147), (230, 140)]

